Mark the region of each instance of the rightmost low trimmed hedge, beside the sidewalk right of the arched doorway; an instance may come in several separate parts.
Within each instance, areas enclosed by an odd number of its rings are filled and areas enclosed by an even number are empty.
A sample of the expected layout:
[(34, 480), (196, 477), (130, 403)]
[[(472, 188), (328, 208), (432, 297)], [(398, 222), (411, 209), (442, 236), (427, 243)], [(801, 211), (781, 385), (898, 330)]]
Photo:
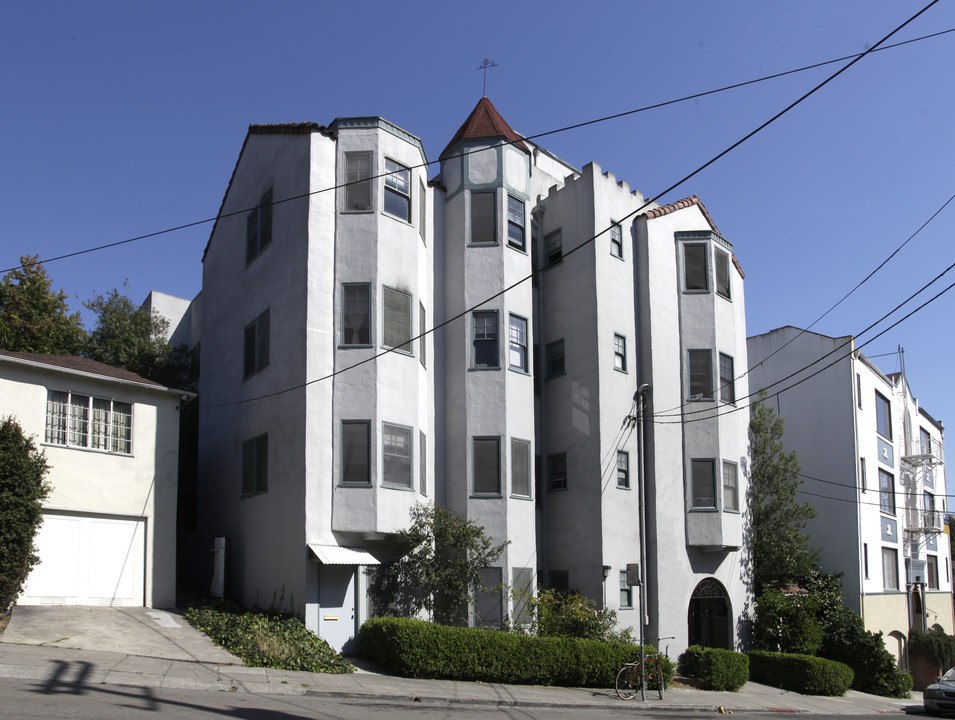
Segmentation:
[(749, 653), (749, 676), (755, 682), (803, 695), (845, 695), (853, 672), (835, 660), (756, 650)]

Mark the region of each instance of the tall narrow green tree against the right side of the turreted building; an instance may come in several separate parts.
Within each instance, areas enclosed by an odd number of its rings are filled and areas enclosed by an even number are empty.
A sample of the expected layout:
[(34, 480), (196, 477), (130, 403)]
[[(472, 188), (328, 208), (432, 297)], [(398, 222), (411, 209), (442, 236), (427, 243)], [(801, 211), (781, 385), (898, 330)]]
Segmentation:
[(818, 563), (809, 545), (806, 521), (816, 516), (796, 501), (799, 461), (783, 446), (785, 426), (765, 402), (753, 407), (749, 423), (749, 513), (753, 586), (759, 597), (769, 587), (800, 583)]

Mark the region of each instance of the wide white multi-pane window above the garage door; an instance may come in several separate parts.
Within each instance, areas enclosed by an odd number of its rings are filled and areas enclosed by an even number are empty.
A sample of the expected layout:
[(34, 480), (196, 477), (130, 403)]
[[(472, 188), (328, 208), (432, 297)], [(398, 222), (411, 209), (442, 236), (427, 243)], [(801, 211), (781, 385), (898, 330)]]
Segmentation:
[(44, 439), (51, 445), (130, 455), (133, 406), (110, 398), (47, 390)]

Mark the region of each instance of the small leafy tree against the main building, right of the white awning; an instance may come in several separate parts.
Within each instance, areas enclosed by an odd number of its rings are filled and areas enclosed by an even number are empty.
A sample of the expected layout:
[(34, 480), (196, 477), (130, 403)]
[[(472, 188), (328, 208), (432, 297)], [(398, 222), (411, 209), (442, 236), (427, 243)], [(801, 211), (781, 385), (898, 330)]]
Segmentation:
[(494, 545), (484, 528), (440, 506), (416, 505), (411, 525), (398, 532), (408, 551), (370, 570), (368, 594), (380, 614), (415, 617), (427, 612), (442, 625), (463, 624), (491, 567), (507, 543)]

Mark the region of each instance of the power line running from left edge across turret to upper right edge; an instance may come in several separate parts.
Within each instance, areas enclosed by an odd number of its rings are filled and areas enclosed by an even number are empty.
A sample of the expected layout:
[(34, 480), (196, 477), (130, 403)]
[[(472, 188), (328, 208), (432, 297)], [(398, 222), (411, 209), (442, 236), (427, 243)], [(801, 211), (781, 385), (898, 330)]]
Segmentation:
[[(937, 1), (937, 0), (936, 0), (936, 1)], [(932, 3), (932, 4), (934, 4), (934, 3)], [(924, 12), (925, 10), (927, 10), (929, 7), (931, 7), (931, 5), (926, 6), (926, 7), (919, 13), (919, 15), (921, 15), (922, 12)], [(910, 19), (909, 21), (907, 21), (905, 24), (907, 25), (909, 22), (911, 22), (911, 20), (914, 20), (916, 17), (918, 17), (918, 15), (913, 16), (913, 18), (911, 18), (911, 19)], [(890, 37), (891, 35), (895, 34), (895, 32), (897, 32), (898, 30), (900, 30), (902, 27), (904, 27), (904, 25), (900, 26), (896, 31), (893, 31), (893, 33), (891, 33), (891, 34), (890, 34), (889, 36), (887, 36), (887, 37)], [(941, 30), (941, 31), (936, 32), (936, 33), (931, 33), (931, 34), (929, 34), (929, 35), (922, 35), (922, 36), (917, 37), (917, 38), (912, 38), (912, 39), (910, 39), (910, 40), (903, 40), (903, 41), (901, 41), (901, 42), (893, 43), (893, 44), (891, 44), (891, 45), (885, 45), (885, 46), (882, 46), (882, 47), (873, 46), (873, 47), (870, 48), (869, 50), (866, 50), (865, 52), (862, 52), (862, 53), (857, 53), (857, 54), (855, 54), (855, 55), (845, 55), (845, 56), (843, 56), (843, 57), (834, 58), (834, 59), (832, 59), (832, 60), (824, 60), (824, 61), (822, 61), (822, 62), (813, 63), (813, 64), (811, 64), (811, 65), (804, 65), (804, 66), (802, 66), (802, 67), (795, 68), (795, 69), (792, 69), (792, 70), (785, 70), (785, 71), (782, 71), (782, 72), (773, 73), (773, 74), (771, 74), (771, 75), (764, 75), (764, 76), (762, 76), (762, 77), (754, 78), (754, 79), (752, 79), (752, 80), (745, 80), (745, 81), (738, 82), (738, 83), (733, 83), (733, 84), (730, 84), (730, 85), (724, 85), (723, 87), (716, 88), (716, 89), (714, 89), (714, 90), (705, 90), (705, 91), (703, 91), (703, 92), (693, 93), (693, 94), (691, 94), (691, 95), (684, 95), (684, 96), (682, 96), (682, 97), (675, 98), (675, 99), (673, 99), (673, 100), (666, 100), (666, 101), (664, 101), (664, 102), (654, 103), (653, 105), (646, 105), (646, 106), (643, 106), (643, 107), (635, 108), (635, 109), (633, 109), (633, 110), (626, 110), (626, 111), (624, 111), (624, 112), (614, 113), (614, 114), (612, 114), (612, 115), (605, 115), (605, 116), (603, 116), (603, 117), (596, 118), (596, 119), (594, 119), (594, 120), (586, 120), (586, 121), (584, 121), (584, 122), (575, 123), (575, 124), (573, 124), (573, 125), (566, 125), (566, 126), (564, 126), (564, 127), (557, 128), (556, 130), (546, 130), (546, 131), (544, 131), (544, 132), (536, 133), (536, 134), (534, 134), (534, 135), (522, 136), (522, 139), (523, 139), (523, 140), (535, 140), (535, 139), (537, 139), (537, 138), (548, 137), (548, 136), (550, 136), (550, 135), (556, 135), (556, 134), (558, 134), (558, 133), (567, 132), (567, 131), (569, 131), (569, 130), (576, 130), (576, 129), (578, 129), (578, 128), (587, 127), (587, 126), (589, 126), (589, 125), (595, 125), (595, 124), (597, 124), (597, 123), (608, 122), (608, 121), (610, 121), (610, 120), (617, 120), (617, 119), (619, 119), (619, 118), (628, 117), (628, 116), (630, 116), (630, 115), (635, 115), (635, 114), (641, 113), (641, 112), (647, 112), (647, 111), (649, 111), (649, 110), (658, 110), (658, 109), (660, 109), (660, 108), (668, 107), (668, 106), (670, 106), (670, 105), (676, 105), (676, 104), (682, 103), (682, 102), (687, 102), (687, 101), (689, 101), (689, 100), (698, 100), (698, 99), (700, 99), (700, 98), (707, 97), (707, 96), (709, 96), (709, 95), (716, 95), (716, 94), (718, 94), (718, 93), (727, 92), (727, 91), (729, 91), (729, 90), (737, 90), (737, 89), (739, 89), (739, 88), (746, 87), (746, 86), (748, 86), (748, 85), (755, 85), (755, 84), (758, 84), (758, 83), (761, 83), (761, 82), (767, 82), (767, 81), (769, 81), (769, 80), (776, 80), (776, 79), (779, 79), (779, 78), (781, 78), (781, 77), (785, 77), (785, 76), (787, 76), (787, 75), (794, 75), (794, 74), (797, 74), (797, 73), (806, 72), (806, 71), (808, 71), (808, 70), (815, 70), (816, 68), (825, 67), (826, 65), (832, 65), (832, 64), (835, 64), (835, 63), (838, 63), (838, 62), (843, 62), (843, 61), (845, 61), (845, 60), (851, 60), (851, 59), (858, 60), (858, 59), (862, 58), (863, 56), (865, 56), (865, 55), (867, 55), (867, 54), (869, 54), (869, 53), (882, 52), (883, 50), (891, 50), (891, 49), (894, 49), (894, 48), (902, 47), (903, 45), (909, 45), (909, 44), (912, 44), (912, 43), (921, 42), (921, 41), (923, 41), (923, 40), (931, 40), (931, 39), (933, 39), (933, 38), (940, 37), (940, 36), (942, 36), (942, 35), (947, 35), (947, 34), (953, 33), (953, 32), (955, 32), (955, 28), (950, 28), (950, 29), (948, 29), (948, 30)], [(848, 67), (848, 66), (847, 66), (847, 67)], [(505, 144), (514, 144), (514, 141), (504, 141), (504, 142), (505, 142)], [(467, 151), (467, 152), (459, 153), (458, 155), (450, 155), (450, 156), (448, 156), (448, 157), (449, 157), (449, 159), (450, 159), (450, 158), (463, 157), (463, 156), (465, 156), (465, 155), (470, 155), (472, 152), (480, 152), (480, 151)], [(439, 162), (441, 162), (441, 159), (440, 159), (440, 158), (438, 158), (438, 160), (432, 160), (432, 161), (429, 161), (429, 162), (420, 163), (420, 164), (418, 164), (418, 165), (412, 165), (412, 166), (410, 166), (408, 169), (409, 169), (409, 170), (416, 170), (416, 169), (419, 169), (419, 168), (430, 167), (431, 165), (435, 165), (435, 164), (437, 164), (437, 163), (439, 163)], [(308, 193), (302, 193), (302, 194), (300, 194), (300, 195), (294, 195), (294, 196), (291, 196), (291, 197), (282, 198), (282, 199), (280, 199), (280, 200), (273, 200), (271, 204), (272, 204), (272, 205), (280, 205), (280, 204), (282, 204), (282, 203), (291, 202), (292, 200), (301, 200), (302, 198), (306, 198), (306, 197), (309, 197), (309, 196), (311, 196), (311, 195), (318, 195), (318, 194), (320, 194), (320, 193), (330, 192), (330, 191), (332, 191), (332, 190), (339, 190), (339, 189), (341, 189), (341, 188), (343, 188), (343, 187), (347, 187), (348, 185), (353, 185), (353, 184), (356, 184), (356, 183), (359, 183), (359, 182), (366, 182), (366, 181), (368, 181), (368, 180), (377, 180), (377, 179), (380, 179), (380, 178), (382, 178), (382, 177), (385, 177), (386, 175), (391, 175), (391, 174), (393, 174), (393, 173), (381, 173), (381, 174), (378, 174), (378, 175), (369, 176), (368, 178), (364, 178), (363, 180), (356, 180), (356, 181), (353, 181), (353, 182), (351, 182), (351, 183), (341, 183), (341, 184), (338, 184), (338, 185), (333, 185), (333, 186), (331, 186), (331, 187), (321, 188), (321, 189), (319, 189), (319, 190), (313, 190), (313, 191), (308, 192)], [(256, 206), (256, 207), (258, 207), (258, 206)], [(72, 257), (77, 257), (77, 256), (80, 256), (80, 255), (86, 255), (86, 254), (93, 253), (93, 252), (99, 252), (100, 250), (108, 250), (108, 249), (110, 249), (110, 248), (119, 247), (119, 246), (121, 246), (121, 245), (127, 245), (127, 244), (129, 244), (129, 243), (138, 242), (138, 241), (140, 241), (140, 240), (147, 240), (147, 239), (149, 239), (149, 238), (158, 237), (158, 236), (160, 236), (160, 235), (167, 235), (167, 234), (169, 234), (169, 233), (179, 232), (180, 230), (188, 230), (189, 228), (197, 227), (197, 226), (199, 226), (199, 225), (206, 225), (206, 224), (211, 223), (211, 222), (216, 222), (216, 221), (219, 220), (220, 218), (232, 217), (232, 216), (235, 216), (235, 215), (242, 215), (242, 214), (245, 214), (245, 213), (249, 213), (249, 212), (251, 212), (251, 211), (254, 210), (254, 209), (255, 209), (255, 207), (250, 207), (250, 208), (244, 208), (244, 209), (242, 209), (242, 210), (236, 210), (236, 211), (229, 212), (229, 213), (220, 213), (220, 214), (217, 214), (215, 217), (204, 218), (204, 219), (202, 219), (202, 220), (195, 220), (195, 221), (193, 221), (193, 222), (184, 223), (184, 224), (182, 224), (182, 225), (176, 225), (176, 226), (174, 226), (174, 227), (166, 228), (166, 229), (164, 229), (164, 230), (156, 230), (155, 232), (145, 233), (145, 234), (143, 234), (143, 235), (136, 235), (135, 237), (126, 238), (125, 240), (117, 240), (116, 242), (105, 243), (105, 244), (103, 244), (103, 245), (97, 245), (97, 246), (95, 246), (95, 247), (90, 247), (90, 248), (86, 248), (86, 249), (83, 249), (83, 250), (77, 250), (77, 251), (75, 251), (75, 252), (65, 253), (65, 254), (63, 254), (63, 255), (56, 255), (56, 256), (54, 256), (54, 257), (45, 258), (45, 259), (40, 260), (40, 261), (38, 261), (38, 262), (43, 263), (43, 264), (47, 264), (47, 263), (51, 263), (51, 262), (57, 262), (57, 261), (59, 261), (59, 260), (66, 260), (66, 259), (69, 259), (69, 258), (72, 258)], [(17, 270), (17, 269), (20, 269), (20, 268), (22, 268), (22, 267), (23, 267), (22, 265), (15, 265), (15, 266), (13, 266), (13, 267), (9, 267), (9, 268), (6, 268), (6, 269), (4, 269), (4, 270), (0, 270), (0, 273), (7, 273), (7, 272), (10, 272), (11, 270)]]

